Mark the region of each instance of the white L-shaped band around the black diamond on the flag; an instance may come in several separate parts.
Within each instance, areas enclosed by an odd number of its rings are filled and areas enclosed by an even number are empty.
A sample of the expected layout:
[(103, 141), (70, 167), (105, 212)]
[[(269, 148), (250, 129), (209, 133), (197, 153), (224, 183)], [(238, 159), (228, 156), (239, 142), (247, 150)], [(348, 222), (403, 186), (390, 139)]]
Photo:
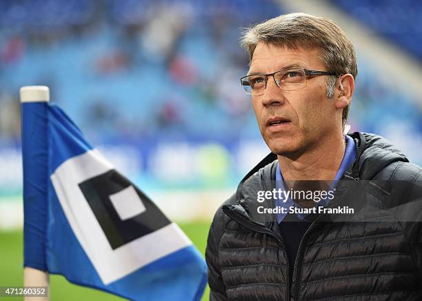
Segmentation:
[(89, 150), (63, 162), (51, 175), (54, 190), (74, 235), (104, 284), (119, 280), (154, 260), (192, 244), (179, 226), (172, 223), (113, 250), (78, 186), (86, 179), (102, 175), (112, 168), (112, 164), (98, 150)]

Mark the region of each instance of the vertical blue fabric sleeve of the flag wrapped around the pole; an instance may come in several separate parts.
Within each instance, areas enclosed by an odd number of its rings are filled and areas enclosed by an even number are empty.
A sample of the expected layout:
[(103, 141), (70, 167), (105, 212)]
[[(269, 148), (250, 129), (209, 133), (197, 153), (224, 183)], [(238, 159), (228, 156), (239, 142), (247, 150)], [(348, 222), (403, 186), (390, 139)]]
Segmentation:
[(24, 266), (47, 270), (45, 256), (47, 222), (48, 106), (44, 102), (23, 104), (23, 255)]

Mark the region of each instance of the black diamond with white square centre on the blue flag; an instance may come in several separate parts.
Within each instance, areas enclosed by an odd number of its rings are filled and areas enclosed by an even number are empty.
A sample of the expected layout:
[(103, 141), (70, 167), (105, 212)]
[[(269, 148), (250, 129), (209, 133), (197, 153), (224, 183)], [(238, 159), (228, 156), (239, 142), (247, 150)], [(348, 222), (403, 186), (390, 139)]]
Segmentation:
[(112, 249), (170, 224), (132, 182), (115, 170), (79, 184)]

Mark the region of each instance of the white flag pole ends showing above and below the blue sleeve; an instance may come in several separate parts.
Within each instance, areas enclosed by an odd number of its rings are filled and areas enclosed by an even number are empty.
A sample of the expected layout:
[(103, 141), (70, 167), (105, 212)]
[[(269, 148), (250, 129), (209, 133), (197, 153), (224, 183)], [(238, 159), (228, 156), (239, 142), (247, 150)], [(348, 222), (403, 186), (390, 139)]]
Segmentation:
[[(19, 91), (21, 103), (48, 102), (50, 101), (50, 90), (47, 86), (24, 86)], [(25, 287), (47, 287), (47, 297), (25, 297), (25, 301), (49, 301), (50, 300), (50, 279), (49, 273), (25, 266), (23, 269), (23, 285)]]

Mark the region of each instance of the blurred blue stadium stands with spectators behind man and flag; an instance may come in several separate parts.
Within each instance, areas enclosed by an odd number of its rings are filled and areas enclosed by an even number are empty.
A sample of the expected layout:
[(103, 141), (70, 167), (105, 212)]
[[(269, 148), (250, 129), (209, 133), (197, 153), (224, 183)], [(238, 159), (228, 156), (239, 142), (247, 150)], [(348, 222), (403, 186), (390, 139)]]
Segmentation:
[[(421, 4), (382, 2), (331, 1), (422, 59)], [(268, 151), (239, 84), (240, 28), (283, 12), (270, 0), (0, 1), (0, 186), (20, 184), (18, 93), (34, 84), (144, 186), (234, 186)], [(421, 106), (357, 55), (352, 130), (421, 164)]]

